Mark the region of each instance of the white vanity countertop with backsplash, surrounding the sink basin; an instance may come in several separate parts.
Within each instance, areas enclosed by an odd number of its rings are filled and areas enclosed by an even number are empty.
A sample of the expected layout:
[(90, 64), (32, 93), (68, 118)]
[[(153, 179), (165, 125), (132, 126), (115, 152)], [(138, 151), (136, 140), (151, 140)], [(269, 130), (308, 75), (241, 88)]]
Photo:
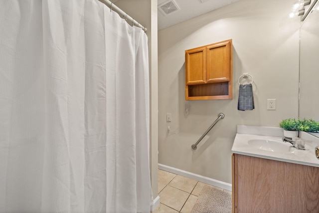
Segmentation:
[[(251, 131), (252, 129), (253, 131)], [(236, 154), (248, 155), (248, 156), (253, 156), (258, 158), (265, 158), (265, 159), (271, 159), (276, 161), (284, 161), (288, 163), (319, 167), (319, 160), (315, 156), (313, 141), (306, 141), (306, 145), (305, 145), (306, 150), (298, 150), (294, 148), (290, 143), (282, 142), (286, 146), (291, 146), (290, 152), (272, 152), (268, 150), (258, 149), (248, 144), (249, 140), (254, 140), (254, 139), (266, 139), (266, 140), (274, 140), (274, 141), (281, 142), (283, 136), (281, 136), (280, 134), (280, 130), (279, 130), (280, 128), (272, 128), (272, 129), (275, 129), (274, 134), (272, 134), (272, 132), (269, 131), (270, 130), (269, 127), (249, 128), (249, 126), (238, 126), (237, 134), (234, 139), (233, 147), (231, 149), (232, 152)], [(249, 134), (246, 134), (246, 132), (248, 132)], [(251, 134), (251, 133), (254, 133), (254, 134)], [(275, 135), (275, 136), (272, 136), (272, 135)]]

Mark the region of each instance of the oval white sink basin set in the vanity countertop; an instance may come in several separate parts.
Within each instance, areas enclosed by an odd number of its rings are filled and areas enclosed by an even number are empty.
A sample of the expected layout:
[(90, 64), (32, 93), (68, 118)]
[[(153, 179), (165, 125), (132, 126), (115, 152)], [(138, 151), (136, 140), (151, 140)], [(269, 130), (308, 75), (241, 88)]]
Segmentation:
[(293, 146), (283, 141), (272, 139), (253, 139), (248, 141), (248, 145), (270, 152), (294, 152)]

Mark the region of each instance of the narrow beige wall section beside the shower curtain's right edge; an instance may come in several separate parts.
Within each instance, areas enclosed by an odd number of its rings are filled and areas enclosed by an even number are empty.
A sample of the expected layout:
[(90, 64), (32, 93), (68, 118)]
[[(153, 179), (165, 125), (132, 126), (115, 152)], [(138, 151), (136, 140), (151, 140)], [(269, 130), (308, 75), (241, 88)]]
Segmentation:
[(147, 27), (149, 38), (150, 93), (151, 93), (151, 147), (150, 166), (154, 199), (158, 196), (158, 9), (157, 0), (118, 0), (123, 11)]

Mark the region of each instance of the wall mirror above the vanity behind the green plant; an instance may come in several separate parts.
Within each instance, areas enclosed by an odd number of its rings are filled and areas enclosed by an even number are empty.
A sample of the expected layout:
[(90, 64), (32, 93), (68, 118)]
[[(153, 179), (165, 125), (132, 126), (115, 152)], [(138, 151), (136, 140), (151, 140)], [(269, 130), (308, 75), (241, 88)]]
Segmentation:
[(299, 117), (319, 121), (319, 1), (316, 1), (300, 27)]

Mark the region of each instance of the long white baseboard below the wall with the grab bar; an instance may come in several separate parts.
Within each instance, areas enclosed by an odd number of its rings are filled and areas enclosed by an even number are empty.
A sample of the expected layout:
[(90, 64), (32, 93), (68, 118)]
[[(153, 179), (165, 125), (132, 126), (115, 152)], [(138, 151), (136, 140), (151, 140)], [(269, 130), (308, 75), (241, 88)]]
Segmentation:
[(184, 170), (176, 169), (176, 168), (173, 168), (173, 167), (170, 167), (170, 166), (166, 166), (166, 165), (162, 165), (162, 164), (159, 164), (159, 169), (160, 170), (164, 170), (166, 172), (174, 173), (176, 175), (184, 176), (186, 178), (191, 178), (193, 180), (200, 181), (202, 183), (209, 184), (209, 185), (214, 186), (214, 187), (218, 187), (218, 188), (221, 188), (221, 189), (224, 189), (224, 190), (232, 191), (231, 184), (228, 184), (226, 182), (217, 181), (215, 179), (207, 178), (207, 177), (204, 177), (204, 176), (201, 176), (201, 175), (197, 175), (197, 174), (194, 174), (194, 173), (191, 173), (191, 172), (187, 172), (187, 171), (184, 171)]

